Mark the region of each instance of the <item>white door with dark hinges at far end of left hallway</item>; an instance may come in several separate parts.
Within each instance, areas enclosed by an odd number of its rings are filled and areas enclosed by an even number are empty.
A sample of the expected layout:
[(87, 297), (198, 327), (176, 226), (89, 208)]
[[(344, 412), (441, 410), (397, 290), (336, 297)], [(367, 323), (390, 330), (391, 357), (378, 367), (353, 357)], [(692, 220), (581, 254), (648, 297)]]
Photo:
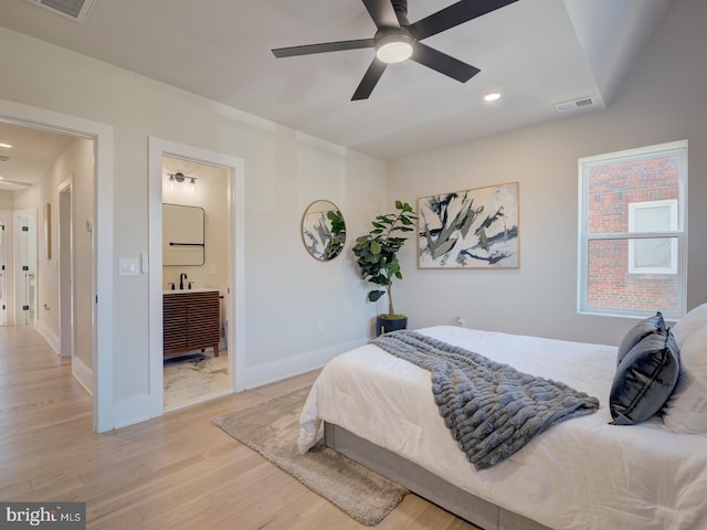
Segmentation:
[(36, 309), (36, 212), (14, 212), (14, 324), (33, 326)]

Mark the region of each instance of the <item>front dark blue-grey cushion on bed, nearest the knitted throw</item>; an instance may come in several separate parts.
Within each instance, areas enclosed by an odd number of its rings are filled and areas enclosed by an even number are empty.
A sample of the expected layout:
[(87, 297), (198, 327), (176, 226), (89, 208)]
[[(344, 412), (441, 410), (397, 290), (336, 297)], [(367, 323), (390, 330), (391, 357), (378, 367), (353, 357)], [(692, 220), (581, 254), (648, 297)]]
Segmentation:
[(675, 390), (679, 352), (673, 333), (651, 333), (623, 358), (609, 405), (613, 425), (634, 425), (656, 414)]

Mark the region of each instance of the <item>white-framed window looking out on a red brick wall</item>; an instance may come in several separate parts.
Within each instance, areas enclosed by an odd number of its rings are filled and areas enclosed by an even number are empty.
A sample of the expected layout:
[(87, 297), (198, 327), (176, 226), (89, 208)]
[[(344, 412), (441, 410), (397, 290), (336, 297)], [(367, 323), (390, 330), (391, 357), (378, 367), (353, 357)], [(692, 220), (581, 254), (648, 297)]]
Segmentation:
[(685, 312), (687, 141), (579, 160), (578, 310)]

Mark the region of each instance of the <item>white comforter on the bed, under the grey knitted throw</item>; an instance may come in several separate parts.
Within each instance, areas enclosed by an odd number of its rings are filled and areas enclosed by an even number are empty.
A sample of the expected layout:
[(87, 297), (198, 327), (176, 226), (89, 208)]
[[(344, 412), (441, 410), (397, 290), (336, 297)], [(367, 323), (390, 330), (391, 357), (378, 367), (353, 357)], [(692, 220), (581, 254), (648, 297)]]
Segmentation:
[(452, 326), (419, 331), (562, 381), (597, 396), (601, 407), (478, 471), (437, 412), (430, 373), (366, 344), (333, 359), (315, 381), (300, 417), (300, 452), (326, 421), (550, 528), (707, 529), (707, 435), (671, 433), (659, 418), (609, 425), (615, 347)]

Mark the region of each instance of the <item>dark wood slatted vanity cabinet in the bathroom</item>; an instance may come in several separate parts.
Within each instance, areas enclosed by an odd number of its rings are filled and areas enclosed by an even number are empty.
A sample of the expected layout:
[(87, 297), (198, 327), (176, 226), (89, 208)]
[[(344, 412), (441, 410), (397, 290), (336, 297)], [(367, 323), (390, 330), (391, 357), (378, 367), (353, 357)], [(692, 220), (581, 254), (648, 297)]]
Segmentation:
[(219, 357), (218, 290), (179, 290), (162, 296), (165, 357), (213, 348)]

